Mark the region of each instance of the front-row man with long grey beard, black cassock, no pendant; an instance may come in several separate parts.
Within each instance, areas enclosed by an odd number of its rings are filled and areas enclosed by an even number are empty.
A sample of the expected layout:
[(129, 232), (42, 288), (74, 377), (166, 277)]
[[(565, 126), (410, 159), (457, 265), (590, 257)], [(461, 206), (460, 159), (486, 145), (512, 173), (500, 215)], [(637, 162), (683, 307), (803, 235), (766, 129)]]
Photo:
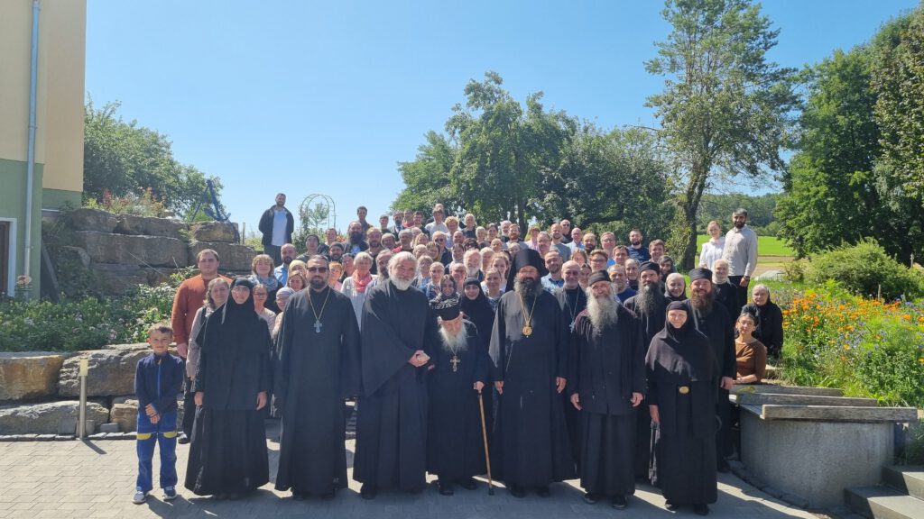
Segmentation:
[[(645, 348), (635, 315), (613, 297), (606, 272), (590, 274), (587, 309), (575, 321), (568, 392), (580, 411), (584, 501), (626, 508), (635, 492), (636, 408), (645, 392)], [(644, 439), (647, 441), (648, 439)]]

